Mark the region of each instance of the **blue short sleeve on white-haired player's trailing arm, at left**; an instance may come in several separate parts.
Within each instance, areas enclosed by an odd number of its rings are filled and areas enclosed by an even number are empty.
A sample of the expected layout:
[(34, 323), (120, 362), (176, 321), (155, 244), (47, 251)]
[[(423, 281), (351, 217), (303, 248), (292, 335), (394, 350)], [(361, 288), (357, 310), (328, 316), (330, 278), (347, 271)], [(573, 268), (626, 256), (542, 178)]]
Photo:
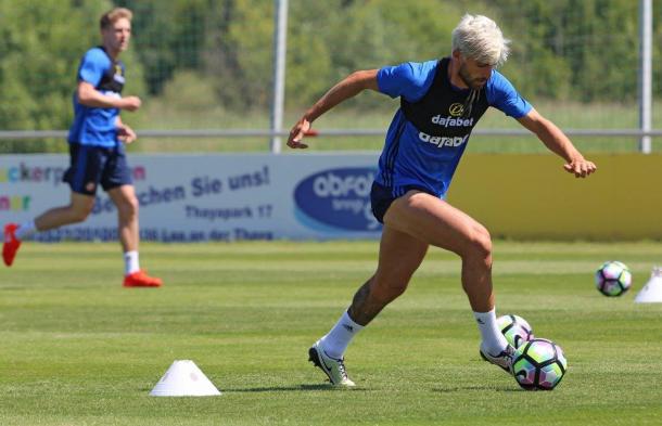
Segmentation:
[(408, 102), (416, 102), (432, 86), (437, 63), (438, 61), (406, 62), (380, 68), (377, 73), (379, 90), (391, 98), (403, 96)]

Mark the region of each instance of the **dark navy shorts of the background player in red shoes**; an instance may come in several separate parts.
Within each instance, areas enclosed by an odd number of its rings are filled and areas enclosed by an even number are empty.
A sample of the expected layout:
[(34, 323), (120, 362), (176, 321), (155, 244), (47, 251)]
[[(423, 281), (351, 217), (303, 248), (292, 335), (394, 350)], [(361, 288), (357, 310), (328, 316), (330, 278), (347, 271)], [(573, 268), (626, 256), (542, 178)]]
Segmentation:
[(62, 180), (75, 193), (93, 196), (100, 184), (109, 191), (133, 183), (122, 143), (115, 147), (69, 143), (69, 157), (71, 165)]

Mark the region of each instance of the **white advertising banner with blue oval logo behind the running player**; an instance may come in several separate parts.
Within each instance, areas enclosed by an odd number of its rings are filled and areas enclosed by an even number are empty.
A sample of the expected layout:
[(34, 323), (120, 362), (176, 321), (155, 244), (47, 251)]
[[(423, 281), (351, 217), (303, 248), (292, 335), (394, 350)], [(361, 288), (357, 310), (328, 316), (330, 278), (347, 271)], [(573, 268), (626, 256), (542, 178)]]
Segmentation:
[[(142, 241), (375, 238), (370, 211), (377, 153), (129, 154)], [(68, 204), (68, 155), (0, 156), (0, 223)], [(36, 241), (117, 240), (117, 211), (97, 194), (85, 222)]]

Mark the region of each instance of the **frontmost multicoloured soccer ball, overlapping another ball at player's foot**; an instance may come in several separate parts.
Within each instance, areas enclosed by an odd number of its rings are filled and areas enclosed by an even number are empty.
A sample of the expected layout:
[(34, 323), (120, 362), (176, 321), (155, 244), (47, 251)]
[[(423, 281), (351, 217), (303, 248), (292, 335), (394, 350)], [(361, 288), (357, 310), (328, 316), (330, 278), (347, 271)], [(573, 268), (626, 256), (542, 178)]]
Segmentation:
[(518, 348), (512, 374), (526, 390), (551, 390), (561, 382), (568, 361), (560, 346), (551, 340), (534, 338)]

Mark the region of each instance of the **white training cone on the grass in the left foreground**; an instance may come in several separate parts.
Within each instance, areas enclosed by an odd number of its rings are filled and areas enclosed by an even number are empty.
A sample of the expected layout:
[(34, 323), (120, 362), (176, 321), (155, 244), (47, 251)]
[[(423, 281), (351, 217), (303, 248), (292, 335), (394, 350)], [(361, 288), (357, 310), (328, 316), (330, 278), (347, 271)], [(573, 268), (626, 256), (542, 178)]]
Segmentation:
[(173, 362), (150, 392), (152, 397), (212, 397), (220, 395), (216, 386), (193, 361)]

